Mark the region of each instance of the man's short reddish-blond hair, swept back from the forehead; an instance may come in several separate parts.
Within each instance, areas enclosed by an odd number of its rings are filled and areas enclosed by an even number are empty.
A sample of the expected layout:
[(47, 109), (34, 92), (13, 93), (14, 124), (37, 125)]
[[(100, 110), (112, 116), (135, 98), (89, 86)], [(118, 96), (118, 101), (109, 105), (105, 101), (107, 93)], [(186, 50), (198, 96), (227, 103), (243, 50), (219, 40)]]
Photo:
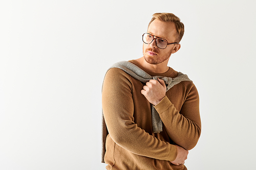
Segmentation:
[(153, 20), (155, 19), (159, 19), (163, 22), (173, 22), (177, 31), (175, 35), (175, 40), (178, 43), (181, 41), (181, 38), (183, 37), (184, 34), (184, 24), (180, 21), (179, 17), (172, 13), (155, 13), (153, 14), (153, 18), (151, 19), (150, 23), (148, 23), (148, 27), (150, 26), (151, 22), (153, 22)]

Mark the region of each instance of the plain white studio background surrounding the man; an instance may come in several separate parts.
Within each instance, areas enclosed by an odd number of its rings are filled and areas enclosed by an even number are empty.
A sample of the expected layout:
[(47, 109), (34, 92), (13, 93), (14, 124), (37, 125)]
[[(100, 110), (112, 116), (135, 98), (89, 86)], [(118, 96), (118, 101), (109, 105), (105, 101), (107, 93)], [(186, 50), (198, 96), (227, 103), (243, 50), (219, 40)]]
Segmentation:
[(169, 66), (200, 94), (202, 135), (188, 169), (254, 169), (255, 1), (2, 1), (0, 169), (104, 169), (101, 84), (142, 57), (152, 14), (185, 34)]

